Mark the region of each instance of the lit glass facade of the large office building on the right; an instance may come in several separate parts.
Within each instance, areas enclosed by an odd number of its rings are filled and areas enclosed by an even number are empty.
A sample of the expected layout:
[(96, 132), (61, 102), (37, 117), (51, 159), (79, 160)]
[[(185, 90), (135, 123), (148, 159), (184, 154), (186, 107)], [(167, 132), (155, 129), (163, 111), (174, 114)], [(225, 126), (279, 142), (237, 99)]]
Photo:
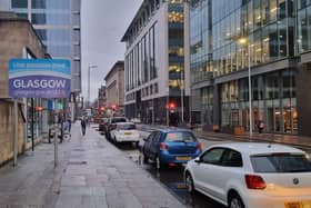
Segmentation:
[[(207, 83), (200, 88), (204, 125), (249, 129), (248, 78), (234, 75), (310, 50), (309, 6), (299, 0), (295, 18), (293, 0), (190, 1), (191, 82)], [(253, 130), (262, 120), (267, 132), (298, 133), (295, 77), (290, 67), (252, 76)]]

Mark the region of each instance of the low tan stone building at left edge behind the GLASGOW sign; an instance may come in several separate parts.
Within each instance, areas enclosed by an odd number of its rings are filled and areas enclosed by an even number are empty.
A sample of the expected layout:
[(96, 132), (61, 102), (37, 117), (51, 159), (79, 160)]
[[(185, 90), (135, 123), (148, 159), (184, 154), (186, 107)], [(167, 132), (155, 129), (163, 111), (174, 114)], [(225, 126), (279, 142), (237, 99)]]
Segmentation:
[[(8, 61), (11, 58), (44, 58), (44, 47), (31, 23), (10, 12), (0, 12), (0, 165), (13, 157), (13, 102), (9, 98)], [(24, 100), (19, 100), (19, 153), (28, 147)], [(38, 137), (39, 138), (39, 137)]]

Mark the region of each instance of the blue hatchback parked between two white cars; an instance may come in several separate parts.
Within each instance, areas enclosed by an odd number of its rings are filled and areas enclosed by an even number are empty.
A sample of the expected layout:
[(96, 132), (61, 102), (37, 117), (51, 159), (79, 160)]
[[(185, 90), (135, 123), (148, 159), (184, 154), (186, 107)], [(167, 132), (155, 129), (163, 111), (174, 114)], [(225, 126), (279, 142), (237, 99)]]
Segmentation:
[(144, 139), (143, 161), (156, 161), (157, 168), (187, 164), (202, 152), (202, 145), (191, 130), (160, 129)]

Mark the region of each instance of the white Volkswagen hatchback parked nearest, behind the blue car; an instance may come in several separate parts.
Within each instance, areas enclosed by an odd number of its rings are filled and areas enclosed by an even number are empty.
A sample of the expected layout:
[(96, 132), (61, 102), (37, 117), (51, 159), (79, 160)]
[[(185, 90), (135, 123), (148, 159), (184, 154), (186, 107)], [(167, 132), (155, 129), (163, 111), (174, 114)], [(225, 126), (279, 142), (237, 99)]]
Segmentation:
[(288, 146), (211, 146), (187, 164), (184, 182), (229, 208), (311, 208), (310, 157)]

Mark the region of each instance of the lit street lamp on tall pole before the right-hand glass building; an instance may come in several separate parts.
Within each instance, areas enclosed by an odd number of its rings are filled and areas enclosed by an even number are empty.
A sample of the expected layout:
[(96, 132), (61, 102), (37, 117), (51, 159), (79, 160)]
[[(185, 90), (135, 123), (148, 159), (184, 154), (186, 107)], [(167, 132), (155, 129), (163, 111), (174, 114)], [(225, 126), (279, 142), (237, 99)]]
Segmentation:
[(251, 46), (250, 41), (245, 37), (241, 37), (238, 39), (238, 42), (242, 46), (248, 46), (248, 55), (249, 55), (249, 119), (250, 119), (250, 139), (252, 139), (252, 81), (251, 81)]

